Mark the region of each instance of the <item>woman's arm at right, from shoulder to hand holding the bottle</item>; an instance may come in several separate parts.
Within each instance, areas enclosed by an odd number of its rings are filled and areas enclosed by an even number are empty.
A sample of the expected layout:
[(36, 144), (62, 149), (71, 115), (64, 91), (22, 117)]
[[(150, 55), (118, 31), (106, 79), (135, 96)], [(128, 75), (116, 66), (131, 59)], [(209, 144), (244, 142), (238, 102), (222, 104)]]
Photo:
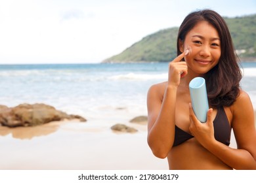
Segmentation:
[[(207, 124), (201, 124), (194, 116), (191, 107), (190, 118), (192, 119), (192, 122), (190, 130), (207, 150), (221, 159), (226, 165), (229, 165), (233, 169), (256, 169), (256, 131), (254, 112), (247, 93), (241, 91), (239, 97), (230, 109), (232, 111), (232, 127), (238, 149), (230, 148), (229, 146), (216, 141), (212, 130), (213, 120), (207, 120)], [(211, 118), (210, 113), (211, 112), (208, 112), (207, 118)], [(199, 133), (198, 131), (200, 130), (204, 131), (204, 133)], [(211, 134), (211, 137), (209, 137), (209, 133)]]

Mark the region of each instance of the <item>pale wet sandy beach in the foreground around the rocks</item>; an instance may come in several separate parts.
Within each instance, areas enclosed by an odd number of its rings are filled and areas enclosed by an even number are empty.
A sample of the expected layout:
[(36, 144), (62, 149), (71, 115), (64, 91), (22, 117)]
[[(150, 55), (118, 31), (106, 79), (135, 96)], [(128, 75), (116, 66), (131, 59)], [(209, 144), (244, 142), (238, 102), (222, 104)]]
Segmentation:
[[(136, 133), (116, 133), (100, 121), (51, 122), (36, 127), (0, 127), (0, 169), (166, 170), (167, 159), (154, 157), (146, 124), (125, 125)], [(236, 148), (234, 135), (231, 147)]]

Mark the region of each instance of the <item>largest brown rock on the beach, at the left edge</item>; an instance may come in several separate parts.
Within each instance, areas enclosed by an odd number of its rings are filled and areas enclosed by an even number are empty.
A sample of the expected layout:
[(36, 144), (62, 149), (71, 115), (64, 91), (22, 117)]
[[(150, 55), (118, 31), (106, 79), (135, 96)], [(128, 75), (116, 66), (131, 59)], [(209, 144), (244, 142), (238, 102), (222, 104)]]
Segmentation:
[(0, 106), (0, 124), (8, 127), (34, 126), (65, 119), (86, 121), (81, 116), (66, 114), (43, 103), (33, 105), (24, 103), (11, 108)]

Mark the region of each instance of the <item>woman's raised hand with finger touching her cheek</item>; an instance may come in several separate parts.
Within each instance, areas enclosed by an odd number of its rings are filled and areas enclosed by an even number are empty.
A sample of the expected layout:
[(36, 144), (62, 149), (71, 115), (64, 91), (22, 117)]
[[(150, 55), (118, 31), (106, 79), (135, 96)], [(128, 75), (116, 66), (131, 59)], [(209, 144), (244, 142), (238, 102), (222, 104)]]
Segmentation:
[(179, 86), (181, 78), (188, 74), (186, 62), (181, 61), (188, 53), (189, 50), (186, 50), (169, 63), (168, 85)]

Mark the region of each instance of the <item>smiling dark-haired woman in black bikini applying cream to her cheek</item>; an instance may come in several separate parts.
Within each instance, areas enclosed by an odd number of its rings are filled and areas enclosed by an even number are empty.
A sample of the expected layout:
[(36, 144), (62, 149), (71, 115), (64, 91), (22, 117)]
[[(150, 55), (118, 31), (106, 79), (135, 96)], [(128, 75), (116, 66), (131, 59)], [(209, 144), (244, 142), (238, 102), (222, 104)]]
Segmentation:
[[(148, 90), (148, 144), (169, 169), (256, 169), (256, 132), (249, 96), (223, 18), (213, 10), (186, 16), (167, 82)], [(201, 123), (188, 84), (205, 78), (210, 109)], [(234, 131), (237, 149), (230, 148)]]

